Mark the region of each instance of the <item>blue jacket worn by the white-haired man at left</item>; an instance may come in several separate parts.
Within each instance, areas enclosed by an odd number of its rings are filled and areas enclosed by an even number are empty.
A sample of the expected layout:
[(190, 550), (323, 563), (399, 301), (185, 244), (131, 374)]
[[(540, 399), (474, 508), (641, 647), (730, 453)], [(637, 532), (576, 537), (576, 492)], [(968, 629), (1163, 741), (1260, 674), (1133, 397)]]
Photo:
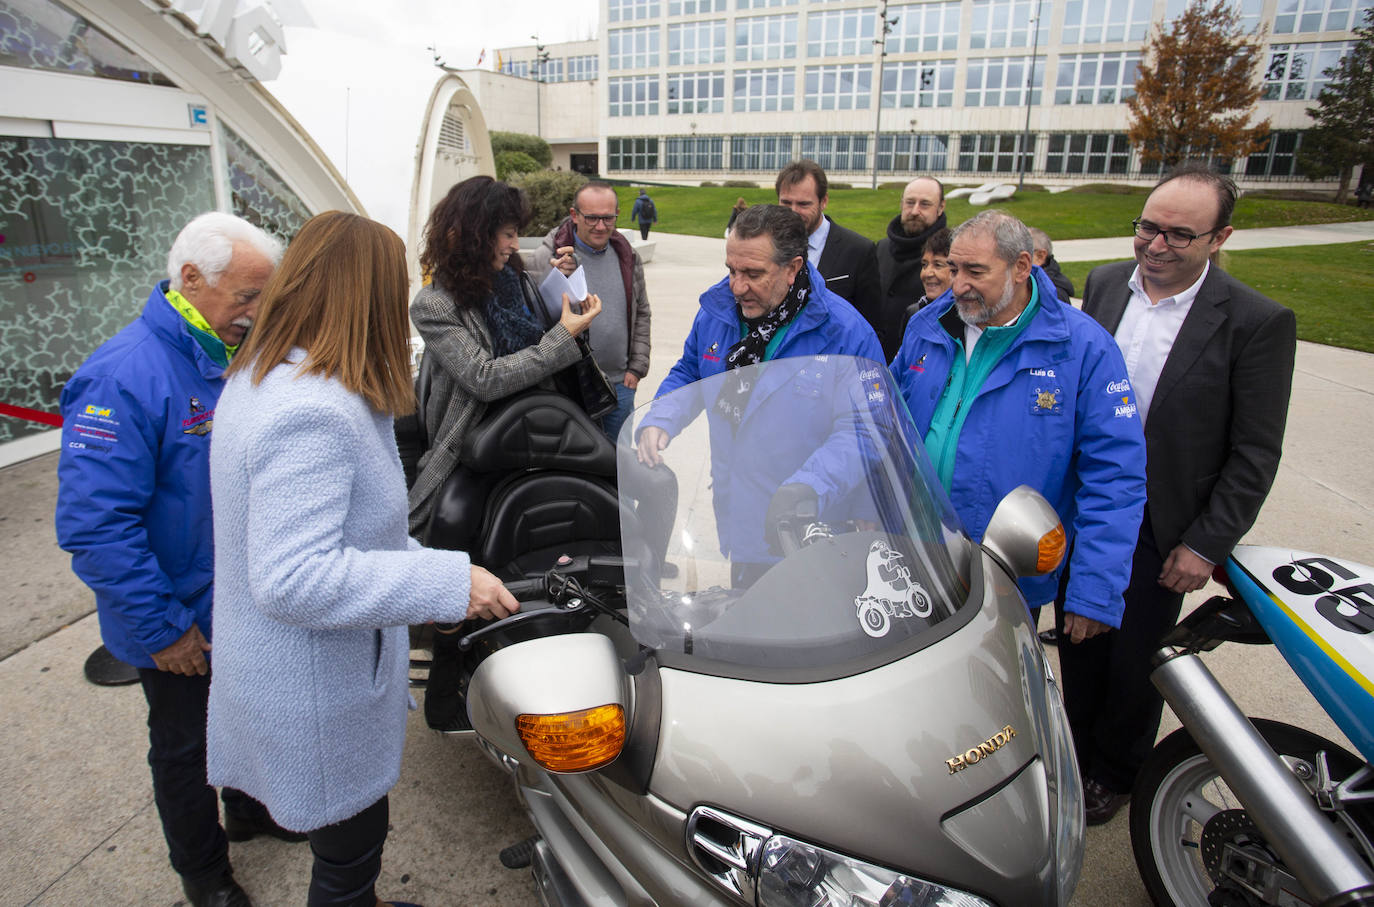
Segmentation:
[(58, 544), (95, 592), (106, 647), (139, 668), (191, 624), (212, 636), (210, 429), (224, 370), (166, 286), (62, 390)]

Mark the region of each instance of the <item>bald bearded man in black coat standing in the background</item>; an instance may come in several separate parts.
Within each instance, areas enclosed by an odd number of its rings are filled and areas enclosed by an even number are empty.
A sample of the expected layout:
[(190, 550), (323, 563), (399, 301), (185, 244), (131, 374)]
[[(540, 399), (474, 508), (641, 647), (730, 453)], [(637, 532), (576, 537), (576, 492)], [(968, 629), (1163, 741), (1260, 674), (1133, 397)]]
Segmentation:
[(901, 348), (907, 309), (925, 294), (921, 282), (921, 253), (930, 236), (945, 228), (944, 184), (933, 176), (918, 176), (901, 190), (901, 212), (888, 223), (888, 235), (878, 240), (878, 339), (892, 361)]

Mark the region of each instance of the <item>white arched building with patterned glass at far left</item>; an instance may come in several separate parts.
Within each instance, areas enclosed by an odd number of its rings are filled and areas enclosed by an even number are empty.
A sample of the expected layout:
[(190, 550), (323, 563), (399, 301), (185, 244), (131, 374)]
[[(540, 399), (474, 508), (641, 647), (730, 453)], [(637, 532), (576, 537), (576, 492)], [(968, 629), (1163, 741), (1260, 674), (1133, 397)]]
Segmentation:
[(142, 311), (177, 231), (290, 239), (364, 213), (262, 88), (295, 0), (0, 0), (0, 466), (56, 449), (58, 396)]

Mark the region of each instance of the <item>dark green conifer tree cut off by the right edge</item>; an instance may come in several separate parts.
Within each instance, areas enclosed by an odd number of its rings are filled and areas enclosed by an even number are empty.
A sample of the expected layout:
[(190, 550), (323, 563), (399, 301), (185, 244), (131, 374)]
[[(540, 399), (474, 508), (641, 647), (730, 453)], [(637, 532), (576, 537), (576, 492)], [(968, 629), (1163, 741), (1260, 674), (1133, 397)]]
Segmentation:
[(1316, 96), (1316, 107), (1307, 109), (1315, 126), (1303, 136), (1297, 154), (1308, 179), (1340, 173), (1338, 205), (1345, 202), (1355, 166), (1374, 166), (1374, 10), (1364, 11), (1364, 25), (1355, 34), (1355, 48), (1323, 73), (1331, 81)]

